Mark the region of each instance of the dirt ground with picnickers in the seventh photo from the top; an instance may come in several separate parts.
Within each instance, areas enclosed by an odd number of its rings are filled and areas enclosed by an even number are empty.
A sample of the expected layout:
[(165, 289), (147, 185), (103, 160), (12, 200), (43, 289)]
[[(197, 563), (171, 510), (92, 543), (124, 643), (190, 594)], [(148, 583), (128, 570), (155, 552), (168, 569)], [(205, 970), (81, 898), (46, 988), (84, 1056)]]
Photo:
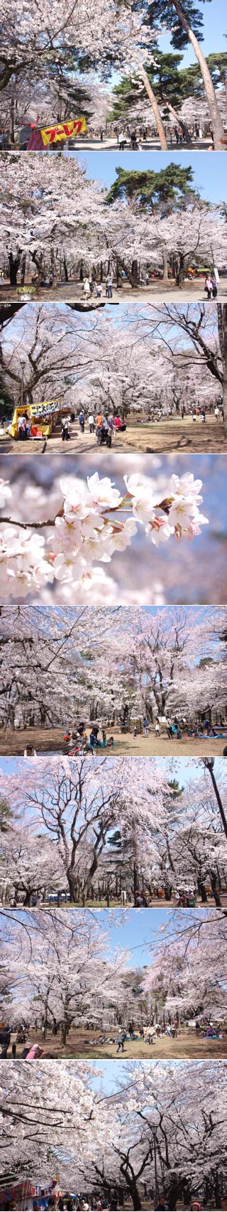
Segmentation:
[[(182, 1059), (203, 1059), (211, 1057), (213, 1059), (219, 1058), (220, 1060), (227, 1057), (227, 1035), (223, 1040), (206, 1040), (197, 1039), (196, 1031), (190, 1031), (181, 1029), (177, 1039), (173, 1040), (168, 1036), (161, 1036), (161, 1039), (155, 1039), (153, 1045), (149, 1045), (145, 1040), (127, 1041), (124, 1044), (124, 1052), (117, 1053), (117, 1044), (107, 1044), (107, 1039), (115, 1036), (117, 1039), (117, 1029), (115, 1028), (109, 1035), (106, 1034), (106, 1042), (98, 1044), (99, 1031), (83, 1031), (82, 1029), (71, 1030), (68, 1035), (68, 1042), (64, 1047), (60, 1044), (58, 1035), (47, 1034), (45, 1042), (41, 1039), (41, 1033), (29, 1031), (29, 1042), (40, 1044), (45, 1052), (54, 1053), (58, 1059), (64, 1059), (65, 1057), (77, 1057), (78, 1059), (88, 1059), (91, 1057), (93, 1060), (103, 1060), (116, 1058), (126, 1060), (182, 1060)], [(11, 1044), (16, 1039), (12, 1035)], [(23, 1051), (23, 1044), (17, 1045), (17, 1057), (21, 1056)], [(10, 1056), (10, 1051), (8, 1051)]]

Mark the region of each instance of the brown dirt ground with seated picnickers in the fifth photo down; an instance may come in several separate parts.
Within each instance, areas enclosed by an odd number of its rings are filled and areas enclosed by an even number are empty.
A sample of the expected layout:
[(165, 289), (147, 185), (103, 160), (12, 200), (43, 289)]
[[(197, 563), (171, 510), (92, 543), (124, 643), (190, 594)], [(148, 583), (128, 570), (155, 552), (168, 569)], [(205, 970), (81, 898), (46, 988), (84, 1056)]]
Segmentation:
[[(66, 727), (66, 725), (65, 725)], [(87, 725), (87, 731), (89, 725)], [(63, 753), (63, 734), (65, 728), (27, 728), (16, 730), (11, 732), (7, 728), (6, 733), (0, 731), (0, 755), (1, 756), (23, 756), (27, 745), (34, 745), (37, 754), (62, 754)], [(116, 728), (107, 728), (107, 737), (115, 737), (114, 749), (106, 749), (106, 754), (122, 754), (128, 758), (184, 758), (185, 755), (191, 755), (193, 758), (205, 756), (221, 756), (223, 754), (223, 748), (227, 741), (217, 739), (216, 737), (209, 737), (206, 739), (199, 739), (198, 737), (186, 737), (182, 736), (182, 741), (177, 741), (175, 737), (171, 741), (164, 734), (156, 737), (153, 731), (150, 731), (149, 737), (133, 737), (132, 732), (126, 734), (118, 733)], [(104, 750), (98, 750), (98, 754)]]

